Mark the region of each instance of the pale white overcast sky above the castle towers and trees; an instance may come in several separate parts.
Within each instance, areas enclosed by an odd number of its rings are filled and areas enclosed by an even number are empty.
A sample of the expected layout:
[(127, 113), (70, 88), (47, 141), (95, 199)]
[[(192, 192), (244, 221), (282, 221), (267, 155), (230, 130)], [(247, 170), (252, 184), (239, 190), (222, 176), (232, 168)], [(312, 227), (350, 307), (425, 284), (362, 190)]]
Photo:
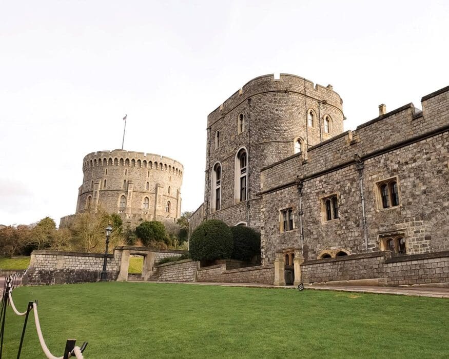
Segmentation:
[(203, 201), (207, 115), (253, 77), (331, 84), (345, 130), (449, 84), (449, 1), (0, 0), (0, 224), (75, 211), (83, 157), (184, 164)]

